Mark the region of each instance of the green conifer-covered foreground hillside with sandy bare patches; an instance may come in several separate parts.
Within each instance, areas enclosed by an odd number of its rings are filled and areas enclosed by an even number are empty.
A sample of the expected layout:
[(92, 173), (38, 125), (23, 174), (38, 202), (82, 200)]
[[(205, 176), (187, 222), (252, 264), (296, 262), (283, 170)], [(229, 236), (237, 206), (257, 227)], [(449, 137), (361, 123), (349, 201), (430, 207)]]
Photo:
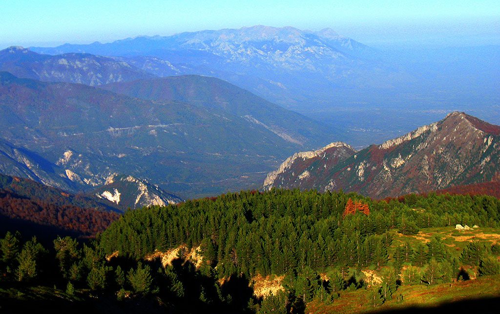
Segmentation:
[[(5, 235), (2, 280), (10, 288), (0, 297), (10, 308), (19, 304), (15, 291), (44, 300), (58, 293), (64, 308), (97, 312), (102, 302), (111, 312), (138, 304), (150, 312), (248, 313), (404, 306), (420, 287), (431, 295), (446, 283), (481, 291), (497, 280), (499, 210), (500, 200), (482, 195), (372, 201), (277, 189), (153, 206), (126, 212), (83, 246), (58, 238), (45, 251)], [(58, 267), (49, 271), (46, 263)], [(32, 288), (40, 284), (55, 287)], [(485, 295), (500, 290), (457, 297)]]

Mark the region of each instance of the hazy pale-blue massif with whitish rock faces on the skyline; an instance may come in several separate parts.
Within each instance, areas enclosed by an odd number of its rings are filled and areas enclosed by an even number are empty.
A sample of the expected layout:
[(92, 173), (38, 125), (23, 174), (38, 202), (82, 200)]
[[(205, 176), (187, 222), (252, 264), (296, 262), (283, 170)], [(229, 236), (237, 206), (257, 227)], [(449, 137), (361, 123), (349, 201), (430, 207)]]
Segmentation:
[(339, 86), (391, 86), (398, 72), (379, 63), (375, 49), (331, 29), (313, 32), (259, 25), (30, 50), (120, 57), (157, 76), (172, 72), (214, 76), (290, 108), (324, 102)]

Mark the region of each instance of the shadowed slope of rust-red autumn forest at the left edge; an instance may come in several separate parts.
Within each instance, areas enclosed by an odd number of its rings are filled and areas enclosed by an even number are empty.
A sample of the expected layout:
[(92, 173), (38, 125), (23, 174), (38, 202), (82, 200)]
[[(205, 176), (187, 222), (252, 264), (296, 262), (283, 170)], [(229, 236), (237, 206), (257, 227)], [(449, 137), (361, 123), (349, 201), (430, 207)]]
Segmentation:
[(95, 196), (69, 194), (29, 179), (0, 174), (0, 229), (53, 237), (92, 236), (118, 219), (119, 210)]

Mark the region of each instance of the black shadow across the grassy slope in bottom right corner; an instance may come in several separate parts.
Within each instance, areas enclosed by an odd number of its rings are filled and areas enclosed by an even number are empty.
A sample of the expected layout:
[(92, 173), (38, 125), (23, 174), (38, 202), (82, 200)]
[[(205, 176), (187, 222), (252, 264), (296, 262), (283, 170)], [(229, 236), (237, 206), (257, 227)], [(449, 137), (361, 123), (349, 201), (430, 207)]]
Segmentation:
[(411, 306), (401, 309), (390, 309), (390, 310), (374, 310), (370, 313), (377, 314), (392, 314), (392, 313), (425, 313), (425, 314), (444, 314), (444, 313), (485, 313), (485, 314), (496, 314), (499, 312), (500, 297), (489, 297), (489, 298), (475, 298), (466, 299), (455, 302), (443, 303), (437, 306)]

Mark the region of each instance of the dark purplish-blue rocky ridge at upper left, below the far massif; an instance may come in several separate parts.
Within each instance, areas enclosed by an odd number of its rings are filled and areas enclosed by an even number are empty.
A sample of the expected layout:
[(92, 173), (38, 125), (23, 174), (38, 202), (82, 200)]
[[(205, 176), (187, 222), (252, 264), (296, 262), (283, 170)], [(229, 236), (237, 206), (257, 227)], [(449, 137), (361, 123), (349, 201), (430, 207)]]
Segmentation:
[(0, 71), (45, 82), (90, 86), (153, 77), (126, 62), (90, 54), (40, 55), (22, 47), (0, 51)]

